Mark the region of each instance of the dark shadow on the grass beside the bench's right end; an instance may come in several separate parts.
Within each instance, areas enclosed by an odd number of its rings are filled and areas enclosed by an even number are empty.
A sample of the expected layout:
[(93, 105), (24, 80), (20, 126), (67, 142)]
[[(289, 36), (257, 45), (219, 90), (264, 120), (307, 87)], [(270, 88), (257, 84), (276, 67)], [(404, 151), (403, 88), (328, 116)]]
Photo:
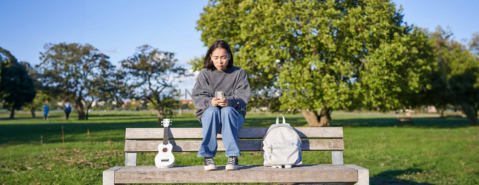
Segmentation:
[(389, 170), (373, 177), (369, 177), (369, 183), (373, 185), (433, 185), (429, 183), (417, 183), (410, 180), (396, 178), (399, 175), (415, 175), (422, 173), (421, 169), (409, 168), (405, 170)]

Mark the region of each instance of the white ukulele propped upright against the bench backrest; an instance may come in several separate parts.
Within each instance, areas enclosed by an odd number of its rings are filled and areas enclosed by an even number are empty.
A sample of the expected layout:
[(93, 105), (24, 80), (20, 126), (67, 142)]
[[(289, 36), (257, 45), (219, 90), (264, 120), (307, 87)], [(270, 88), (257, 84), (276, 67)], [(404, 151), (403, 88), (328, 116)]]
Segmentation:
[(155, 156), (155, 165), (158, 168), (171, 168), (175, 165), (175, 156), (171, 153), (173, 145), (168, 142), (168, 126), (170, 126), (170, 119), (163, 119), (161, 125), (164, 127), (163, 144), (158, 145), (158, 154)]

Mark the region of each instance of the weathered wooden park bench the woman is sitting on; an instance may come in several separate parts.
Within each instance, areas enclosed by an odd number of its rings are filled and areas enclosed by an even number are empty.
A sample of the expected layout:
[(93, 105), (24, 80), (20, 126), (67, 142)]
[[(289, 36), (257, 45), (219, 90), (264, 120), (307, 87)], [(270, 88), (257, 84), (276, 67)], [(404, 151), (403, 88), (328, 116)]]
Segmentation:
[[(202, 128), (170, 128), (173, 152), (196, 152), (201, 143)], [(261, 139), (268, 128), (239, 129), (240, 151), (261, 151)], [(137, 166), (137, 152), (158, 153), (163, 128), (126, 128), (125, 166), (103, 171), (103, 185), (124, 183), (306, 183), (345, 182), (347, 185), (368, 185), (369, 170), (352, 164), (343, 164), (342, 127), (297, 127), (302, 151), (331, 151), (332, 164), (303, 164), (293, 168), (268, 168), (262, 165), (241, 165), (227, 171), (219, 165), (216, 171), (205, 171), (203, 165), (160, 169), (151, 160), (149, 166)], [(217, 138), (221, 138), (218, 134)], [(176, 140), (182, 139), (182, 140)], [(189, 140), (184, 140), (189, 139)], [(260, 140), (258, 140), (260, 139)], [(218, 140), (218, 151), (225, 151)], [(175, 153), (173, 153), (175, 154)], [(176, 160), (181, 160), (176, 155)], [(306, 157), (303, 157), (305, 159)], [(203, 160), (198, 157), (198, 160)], [(244, 163), (244, 161), (243, 161)]]

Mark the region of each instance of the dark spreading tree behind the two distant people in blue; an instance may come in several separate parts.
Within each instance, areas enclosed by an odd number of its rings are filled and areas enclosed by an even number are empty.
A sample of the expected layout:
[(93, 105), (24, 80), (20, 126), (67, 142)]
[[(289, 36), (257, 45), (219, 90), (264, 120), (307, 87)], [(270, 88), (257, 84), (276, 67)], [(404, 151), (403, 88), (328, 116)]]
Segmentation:
[(61, 89), (60, 96), (74, 100), (78, 119), (85, 119), (85, 98), (91, 96), (93, 81), (113, 67), (109, 57), (90, 44), (46, 44), (41, 52), (40, 72), (44, 86)]

